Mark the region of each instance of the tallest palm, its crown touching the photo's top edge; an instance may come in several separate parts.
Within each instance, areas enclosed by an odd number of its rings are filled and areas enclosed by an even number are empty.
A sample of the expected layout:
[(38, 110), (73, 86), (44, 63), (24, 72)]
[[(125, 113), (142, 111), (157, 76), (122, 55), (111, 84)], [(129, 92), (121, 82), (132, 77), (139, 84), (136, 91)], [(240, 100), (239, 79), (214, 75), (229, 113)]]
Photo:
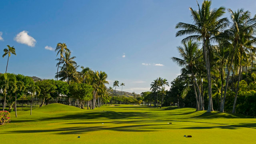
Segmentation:
[[(221, 18), (225, 13), (225, 8), (220, 7), (218, 9), (214, 8), (211, 10), (211, 1), (204, 0), (202, 7), (200, 8), (198, 4), (198, 10), (193, 10), (189, 8), (192, 15), (193, 24), (186, 24), (179, 22), (176, 25), (176, 28), (182, 28), (176, 33), (176, 36), (190, 35), (182, 40), (182, 42), (188, 40), (202, 40), (203, 42), (203, 51), (204, 51), (204, 61), (207, 72), (207, 81), (208, 81), (208, 95), (209, 95), (209, 104), (207, 112), (213, 111), (212, 107), (212, 86), (211, 86), (211, 72), (210, 72), (210, 39), (218, 34), (220, 30), (223, 30), (228, 26), (228, 19)], [(192, 35), (196, 34), (196, 35)]]

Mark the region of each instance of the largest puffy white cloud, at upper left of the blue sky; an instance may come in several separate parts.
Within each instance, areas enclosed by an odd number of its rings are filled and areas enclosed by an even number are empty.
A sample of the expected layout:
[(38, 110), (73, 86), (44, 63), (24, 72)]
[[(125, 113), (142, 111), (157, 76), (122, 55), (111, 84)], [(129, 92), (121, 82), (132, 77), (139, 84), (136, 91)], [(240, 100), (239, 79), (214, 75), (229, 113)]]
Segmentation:
[(25, 30), (18, 33), (14, 40), (18, 43), (26, 44), (31, 47), (34, 47), (36, 44), (36, 40), (32, 36), (28, 35), (28, 32)]

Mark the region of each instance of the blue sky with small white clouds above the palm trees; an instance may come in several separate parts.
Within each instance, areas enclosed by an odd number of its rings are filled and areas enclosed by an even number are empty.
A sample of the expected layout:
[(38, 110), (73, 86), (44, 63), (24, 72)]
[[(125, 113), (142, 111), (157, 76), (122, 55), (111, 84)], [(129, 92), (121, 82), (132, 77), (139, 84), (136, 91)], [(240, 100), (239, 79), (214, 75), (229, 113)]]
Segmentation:
[[(212, 1), (220, 6), (256, 14), (255, 0)], [(2, 0), (0, 55), (14, 46), (7, 72), (54, 79), (54, 50), (66, 43), (78, 65), (108, 74), (108, 86), (118, 80), (123, 91), (140, 94), (156, 78), (171, 82), (180, 74), (170, 58), (179, 57), (184, 38), (175, 37), (175, 25), (192, 23), (189, 7), (198, 9), (196, 0)], [(6, 63), (0, 58), (0, 73)]]

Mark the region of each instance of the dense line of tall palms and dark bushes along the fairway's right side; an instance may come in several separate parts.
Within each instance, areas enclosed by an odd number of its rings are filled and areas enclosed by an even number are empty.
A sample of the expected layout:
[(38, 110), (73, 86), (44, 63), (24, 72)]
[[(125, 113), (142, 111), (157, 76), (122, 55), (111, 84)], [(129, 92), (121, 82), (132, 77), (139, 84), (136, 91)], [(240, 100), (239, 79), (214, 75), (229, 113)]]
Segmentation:
[[(256, 15), (227, 9), (230, 18), (225, 18), (226, 8), (211, 9), (211, 3), (204, 0), (198, 10), (190, 7), (192, 24), (176, 25), (180, 29), (176, 36), (186, 37), (177, 47), (180, 57), (171, 58), (182, 68), (171, 82), (166, 105), (182, 102), (197, 111), (215, 109), (255, 116)], [(157, 87), (152, 90), (157, 99)]]

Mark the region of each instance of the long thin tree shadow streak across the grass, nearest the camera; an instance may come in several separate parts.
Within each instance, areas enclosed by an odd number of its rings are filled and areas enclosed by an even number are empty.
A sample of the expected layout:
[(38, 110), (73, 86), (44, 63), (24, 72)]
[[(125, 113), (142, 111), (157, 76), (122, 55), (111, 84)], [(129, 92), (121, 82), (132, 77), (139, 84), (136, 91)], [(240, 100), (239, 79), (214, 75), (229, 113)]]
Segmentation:
[(175, 125), (175, 124), (138, 124), (138, 125), (129, 125), (129, 126), (74, 126), (74, 127), (65, 127), (65, 128), (57, 128), (52, 130), (14, 130), (8, 131), (2, 134), (10, 134), (10, 133), (39, 133), (39, 132), (53, 132), (53, 134), (82, 134), (86, 132), (99, 131), (99, 130), (113, 130), (120, 132), (155, 132), (160, 131), (162, 129), (213, 129), (213, 128), (221, 128), (221, 129), (231, 129), (235, 130), (241, 128), (242, 126), (232, 126), (225, 124), (208, 124), (208, 125)]

